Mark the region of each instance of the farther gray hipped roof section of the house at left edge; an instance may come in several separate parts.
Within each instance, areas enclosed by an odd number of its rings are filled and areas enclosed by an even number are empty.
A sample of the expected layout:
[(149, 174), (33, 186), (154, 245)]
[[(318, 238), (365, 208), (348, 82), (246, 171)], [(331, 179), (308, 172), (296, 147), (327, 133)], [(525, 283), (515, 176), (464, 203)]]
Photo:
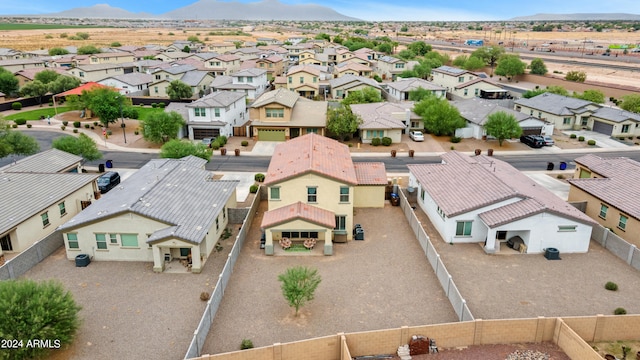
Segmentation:
[(57, 173), (82, 162), (82, 157), (49, 149), (0, 168), (0, 172)]

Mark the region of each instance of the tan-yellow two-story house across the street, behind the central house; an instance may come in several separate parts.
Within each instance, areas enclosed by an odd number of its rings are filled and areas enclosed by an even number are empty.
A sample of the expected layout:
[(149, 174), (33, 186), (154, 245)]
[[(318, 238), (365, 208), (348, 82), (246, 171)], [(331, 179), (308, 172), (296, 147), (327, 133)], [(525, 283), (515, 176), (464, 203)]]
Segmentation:
[(326, 101), (309, 100), (287, 89), (266, 92), (249, 108), (252, 136), (262, 141), (285, 141), (308, 133), (324, 135), (327, 106)]

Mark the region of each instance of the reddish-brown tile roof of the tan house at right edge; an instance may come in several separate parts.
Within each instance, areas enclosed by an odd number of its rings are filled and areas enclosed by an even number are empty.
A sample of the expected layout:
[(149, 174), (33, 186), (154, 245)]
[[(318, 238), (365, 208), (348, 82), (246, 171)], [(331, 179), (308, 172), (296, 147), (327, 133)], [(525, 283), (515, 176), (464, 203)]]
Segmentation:
[(602, 158), (593, 154), (581, 156), (575, 161), (604, 177), (569, 179), (571, 186), (640, 220), (639, 162), (624, 157)]

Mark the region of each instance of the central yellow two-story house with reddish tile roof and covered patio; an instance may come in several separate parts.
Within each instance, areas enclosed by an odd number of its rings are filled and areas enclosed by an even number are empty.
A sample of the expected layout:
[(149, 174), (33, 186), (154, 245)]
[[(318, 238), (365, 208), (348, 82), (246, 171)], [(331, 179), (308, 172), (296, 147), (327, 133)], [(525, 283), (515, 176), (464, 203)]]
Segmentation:
[(278, 144), (264, 182), (265, 253), (280, 254), (284, 242), (311, 242), (332, 255), (334, 241), (353, 237), (354, 208), (384, 206), (386, 184), (383, 163), (354, 164), (349, 148), (335, 140), (307, 134)]

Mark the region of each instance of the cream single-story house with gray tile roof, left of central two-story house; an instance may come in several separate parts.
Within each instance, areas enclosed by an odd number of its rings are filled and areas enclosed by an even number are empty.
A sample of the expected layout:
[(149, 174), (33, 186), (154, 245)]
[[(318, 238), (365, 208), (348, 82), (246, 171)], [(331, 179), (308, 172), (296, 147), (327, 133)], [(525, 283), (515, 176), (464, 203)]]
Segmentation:
[[(162, 272), (173, 259), (202, 267), (236, 207), (238, 181), (214, 180), (205, 160), (154, 159), (58, 229), (67, 258), (153, 262)], [(179, 266), (179, 265), (177, 265)]]

